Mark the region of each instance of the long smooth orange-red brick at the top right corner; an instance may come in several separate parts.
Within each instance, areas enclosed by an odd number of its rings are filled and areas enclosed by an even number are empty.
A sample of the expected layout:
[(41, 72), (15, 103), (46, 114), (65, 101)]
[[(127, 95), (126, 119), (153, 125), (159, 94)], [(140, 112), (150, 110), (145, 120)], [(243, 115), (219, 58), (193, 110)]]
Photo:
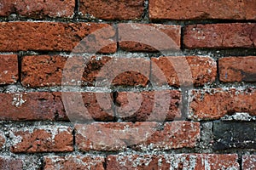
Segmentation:
[(151, 0), (149, 18), (151, 20), (256, 20), (256, 3), (245, 1), (211, 0)]

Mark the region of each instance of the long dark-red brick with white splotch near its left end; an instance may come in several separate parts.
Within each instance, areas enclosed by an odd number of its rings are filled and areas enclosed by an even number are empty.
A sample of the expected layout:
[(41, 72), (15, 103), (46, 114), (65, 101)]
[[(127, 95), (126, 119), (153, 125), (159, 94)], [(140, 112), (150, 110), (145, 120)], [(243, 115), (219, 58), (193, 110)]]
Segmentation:
[[(107, 99), (107, 95), (112, 94), (89, 92), (0, 94), (0, 120), (111, 121), (113, 120), (112, 100), (110, 100), (111, 96)], [(81, 100), (79, 100), (80, 96)], [(84, 111), (88, 111), (89, 115)]]

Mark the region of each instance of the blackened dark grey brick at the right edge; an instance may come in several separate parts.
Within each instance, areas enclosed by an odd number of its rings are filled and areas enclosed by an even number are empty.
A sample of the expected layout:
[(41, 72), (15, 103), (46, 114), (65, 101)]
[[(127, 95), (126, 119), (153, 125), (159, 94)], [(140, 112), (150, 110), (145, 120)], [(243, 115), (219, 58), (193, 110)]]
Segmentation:
[(215, 150), (256, 148), (255, 122), (213, 122)]

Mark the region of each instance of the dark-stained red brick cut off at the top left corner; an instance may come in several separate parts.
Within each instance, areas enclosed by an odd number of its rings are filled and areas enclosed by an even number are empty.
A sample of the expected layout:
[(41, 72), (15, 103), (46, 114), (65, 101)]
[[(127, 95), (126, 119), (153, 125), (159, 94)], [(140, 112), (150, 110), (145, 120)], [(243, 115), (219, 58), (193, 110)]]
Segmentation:
[(72, 18), (75, 8), (75, 0), (2, 0), (0, 3), (0, 16), (20, 14), (25, 17), (65, 17)]

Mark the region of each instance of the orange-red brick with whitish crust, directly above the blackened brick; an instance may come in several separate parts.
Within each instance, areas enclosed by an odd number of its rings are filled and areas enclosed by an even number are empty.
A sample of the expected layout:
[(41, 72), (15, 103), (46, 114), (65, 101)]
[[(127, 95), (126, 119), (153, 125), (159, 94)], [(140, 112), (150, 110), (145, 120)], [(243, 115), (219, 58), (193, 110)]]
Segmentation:
[(195, 120), (219, 119), (236, 112), (247, 112), (256, 116), (254, 88), (193, 90), (189, 100), (189, 117)]

